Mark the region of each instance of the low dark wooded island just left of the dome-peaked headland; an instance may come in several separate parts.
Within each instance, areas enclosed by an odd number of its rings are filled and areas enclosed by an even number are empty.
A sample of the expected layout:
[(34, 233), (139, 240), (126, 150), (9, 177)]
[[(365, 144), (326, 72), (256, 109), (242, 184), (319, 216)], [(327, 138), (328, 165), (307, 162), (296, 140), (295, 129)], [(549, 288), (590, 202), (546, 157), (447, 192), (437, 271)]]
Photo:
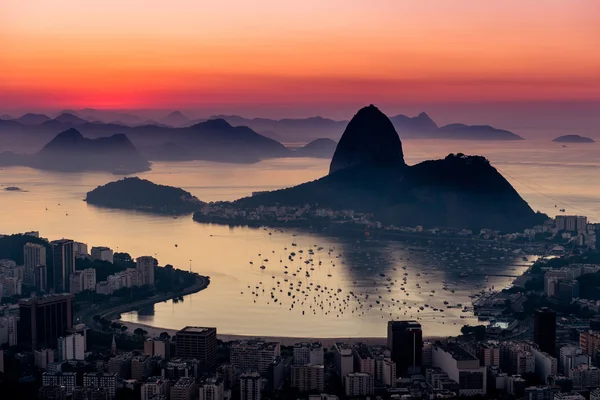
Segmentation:
[(183, 189), (158, 185), (138, 177), (110, 182), (88, 192), (85, 201), (96, 206), (142, 210), (159, 214), (187, 214), (204, 203)]

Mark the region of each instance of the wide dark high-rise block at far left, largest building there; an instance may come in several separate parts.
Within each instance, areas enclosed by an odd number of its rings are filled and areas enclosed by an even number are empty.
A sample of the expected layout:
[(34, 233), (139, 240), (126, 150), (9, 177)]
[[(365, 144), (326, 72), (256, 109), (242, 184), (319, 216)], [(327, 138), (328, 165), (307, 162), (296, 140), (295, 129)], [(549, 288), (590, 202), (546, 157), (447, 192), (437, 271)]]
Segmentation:
[(19, 344), (32, 350), (56, 348), (73, 326), (73, 295), (47, 295), (19, 300)]

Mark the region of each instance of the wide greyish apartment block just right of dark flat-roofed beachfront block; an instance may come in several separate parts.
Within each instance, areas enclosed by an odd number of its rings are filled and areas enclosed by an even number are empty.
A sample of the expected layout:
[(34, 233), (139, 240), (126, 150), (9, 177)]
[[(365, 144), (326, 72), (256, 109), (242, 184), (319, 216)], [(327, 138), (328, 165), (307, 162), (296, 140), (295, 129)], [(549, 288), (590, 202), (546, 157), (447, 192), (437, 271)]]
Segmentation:
[(231, 364), (240, 372), (258, 371), (265, 374), (269, 365), (280, 356), (281, 346), (278, 342), (261, 340), (242, 340), (229, 346)]

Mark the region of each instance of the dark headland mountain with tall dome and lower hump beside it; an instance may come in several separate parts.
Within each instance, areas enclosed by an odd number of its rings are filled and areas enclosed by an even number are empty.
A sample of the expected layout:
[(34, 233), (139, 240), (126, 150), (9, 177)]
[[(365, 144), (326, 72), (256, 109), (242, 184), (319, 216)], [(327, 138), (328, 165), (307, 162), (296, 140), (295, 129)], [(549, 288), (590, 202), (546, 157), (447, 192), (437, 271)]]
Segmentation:
[[(423, 116), (409, 123), (415, 122), (430, 124)], [(372, 213), (389, 224), (507, 232), (548, 218), (535, 213), (483, 157), (450, 154), (407, 166), (391, 119), (372, 105), (348, 124), (329, 175), (234, 204), (241, 208), (311, 204)]]

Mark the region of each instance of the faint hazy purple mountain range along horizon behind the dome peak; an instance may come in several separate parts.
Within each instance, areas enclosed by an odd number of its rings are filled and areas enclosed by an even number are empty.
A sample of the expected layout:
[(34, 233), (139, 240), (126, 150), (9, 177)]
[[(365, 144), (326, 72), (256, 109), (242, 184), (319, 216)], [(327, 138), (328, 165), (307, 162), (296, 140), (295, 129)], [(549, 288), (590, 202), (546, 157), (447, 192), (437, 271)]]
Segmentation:
[[(9, 117), (9, 116), (8, 116)], [(95, 109), (64, 110), (54, 118), (44, 114), (25, 114), (16, 119), (1, 118), (0, 134), (52, 133), (72, 127), (89, 136), (126, 133), (134, 143), (138, 141), (170, 141), (169, 128), (189, 128), (207, 120), (222, 119), (234, 127), (246, 126), (256, 133), (283, 143), (307, 143), (320, 138), (339, 140), (348, 121), (322, 117), (310, 118), (244, 118), (237, 115), (214, 115), (209, 119), (194, 119), (180, 111), (173, 111), (156, 120), (139, 116)], [(489, 125), (449, 124), (438, 126), (426, 113), (416, 117), (396, 115), (390, 118), (402, 139), (462, 139), (462, 140), (522, 140), (513, 132)], [(131, 132), (130, 130), (133, 129)], [(158, 138), (160, 134), (162, 138)], [(46, 138), (48, 139), (48, 138)], [(141, 143), (145, 144), (145, 143)]]

